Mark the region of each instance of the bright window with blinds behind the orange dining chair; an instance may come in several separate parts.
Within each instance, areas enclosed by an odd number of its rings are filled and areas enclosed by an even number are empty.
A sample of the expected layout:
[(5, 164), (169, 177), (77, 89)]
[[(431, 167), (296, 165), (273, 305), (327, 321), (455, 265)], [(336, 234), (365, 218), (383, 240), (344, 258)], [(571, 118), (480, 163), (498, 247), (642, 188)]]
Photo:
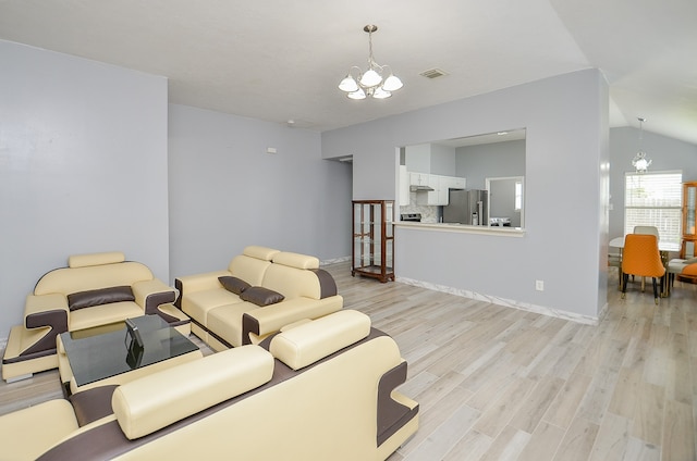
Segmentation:
[(624, 234), (656, 226), (661, 241), (680, 245), (682, 183), (682, 172), (626, 173)]

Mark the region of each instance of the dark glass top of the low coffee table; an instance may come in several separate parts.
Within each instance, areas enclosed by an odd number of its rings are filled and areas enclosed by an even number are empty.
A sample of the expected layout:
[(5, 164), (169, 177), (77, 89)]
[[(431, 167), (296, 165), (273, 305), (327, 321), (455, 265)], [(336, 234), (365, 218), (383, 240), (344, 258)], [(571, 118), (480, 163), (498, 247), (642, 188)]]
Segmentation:
[(118, 331), (95, 336), (85, 336), (84, 332), (61, 333), (77, 386), (198, 350), (194, 342), (159, 315), (131, 320), (140, 332), (143, 348), (132, 342), (125, 323)]

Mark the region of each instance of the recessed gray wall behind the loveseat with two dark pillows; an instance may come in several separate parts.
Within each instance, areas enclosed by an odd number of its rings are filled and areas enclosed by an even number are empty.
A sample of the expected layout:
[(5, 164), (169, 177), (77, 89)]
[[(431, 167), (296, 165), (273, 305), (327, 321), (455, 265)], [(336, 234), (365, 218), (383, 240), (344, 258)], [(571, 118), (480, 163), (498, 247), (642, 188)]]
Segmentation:
[(247, 245), (351, 254), (352, 165), (322, 160), (319, 133), (175, 104), (169, 126), (172, 277)]

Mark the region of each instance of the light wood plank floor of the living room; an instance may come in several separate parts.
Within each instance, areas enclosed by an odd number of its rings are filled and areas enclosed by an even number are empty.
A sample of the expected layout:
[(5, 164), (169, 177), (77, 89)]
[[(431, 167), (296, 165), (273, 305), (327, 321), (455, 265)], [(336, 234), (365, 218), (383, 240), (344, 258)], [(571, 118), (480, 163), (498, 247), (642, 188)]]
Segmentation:
[[(697, 285), (656, 306), (612, 274), (582, 325), (326, 269), (408, 362), (420, 425), (390, 461), (697, 459)], [(0, 414), (60, 396), (56, 371), (2, 383)]]

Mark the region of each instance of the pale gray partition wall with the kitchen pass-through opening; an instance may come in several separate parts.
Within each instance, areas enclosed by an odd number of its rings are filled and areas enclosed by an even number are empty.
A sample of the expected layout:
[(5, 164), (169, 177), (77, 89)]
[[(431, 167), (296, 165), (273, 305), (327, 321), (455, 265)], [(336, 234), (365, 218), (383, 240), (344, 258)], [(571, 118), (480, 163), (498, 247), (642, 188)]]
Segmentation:
[(327, 132), (322, 154), (353, 154), (354, 198), (391, 199), (396, 146), (526, 128), (525, 237), (398, 228), (396, 276), (592, 319), (607, 303), (607, 114), (587, 70)]

